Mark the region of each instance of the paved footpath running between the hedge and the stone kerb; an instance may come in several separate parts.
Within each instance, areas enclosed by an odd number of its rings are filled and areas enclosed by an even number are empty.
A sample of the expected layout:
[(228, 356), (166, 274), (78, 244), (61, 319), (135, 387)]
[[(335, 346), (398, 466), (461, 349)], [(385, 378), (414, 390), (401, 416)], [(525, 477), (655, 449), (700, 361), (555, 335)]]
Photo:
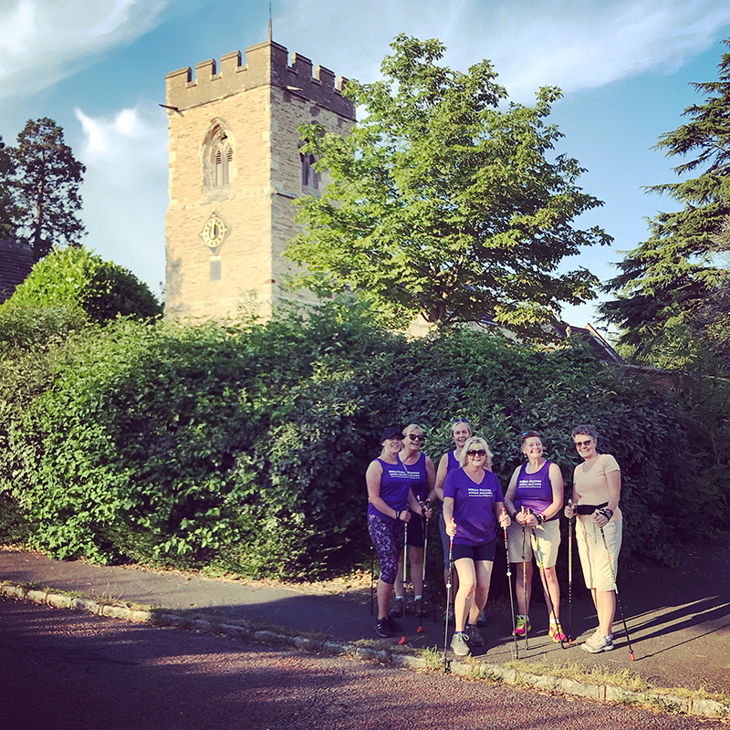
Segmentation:
[[(636, 661), (619, 631), (616, 649), (598, 656), (575, 644), (561, 650), (547, 639), (547, 611), (533, 610), (535, 632), (529, 649), (519, 642), (519, 658), (529, 662), (598, 665), (609, 672), (629, 670), (661, 687), (704, 688), (730, 695), (730, 561), (726, 546), (698, 549), (680, 568), (641, 568), (620, 577), (621, 605)], [(173, 610), (196, 610), (225, 620), (245, 619), (295, 631), (328, 634), (336, 641), (375, 639), (369, 591), (346, 597), (313, 595), (289, 588), (245, 584), (224, 579), (158, 573), (139, 568), (94, 566), (83, 561), (59, 562), (30, 552), (0, 550), (0, 580), (42, 588), (77, 591), (87, 597), (137, 602)], [(573, 584), (574, 635), (582, 642), (595, 629), (587, 591)], [(568, 608), (564, 596), (563, 621)], [(489, 662), (512, 658), (511, 619), (505, 597), (493, 596), (483, 630), (486, 646), (479, 653)], [(443, 622), (428, 617), (424, 631), (406, 616), (406, 641), (414, 647), (443, 647)], [(620, 623), (617, 624), (620, 628)], [(615, 631), (618, 631), (615, 630)], [(391, 641), (393, 644), (400, 637)]]

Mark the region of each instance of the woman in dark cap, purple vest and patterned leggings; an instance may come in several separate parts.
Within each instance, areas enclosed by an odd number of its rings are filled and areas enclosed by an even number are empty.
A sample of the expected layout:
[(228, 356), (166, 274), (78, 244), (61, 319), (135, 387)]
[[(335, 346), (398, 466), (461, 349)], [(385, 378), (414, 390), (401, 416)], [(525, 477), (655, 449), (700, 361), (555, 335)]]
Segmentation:
[(378, 581), (379, 636), (391, 636), (401, 627), (388, 615), (393, 584), (398, 571), (398, 557), (403, 551), (403, 524), (411, 519), (409, 507), (417, 515), (431, 516), (431, 510), (422, 511), (411, 490), (411, 477), (403, 467), (399, 452), (403, 443), (400, 429), (391, 426), (381, 435), (381, 455), (370, 462), (365, 473), (368, 485), (368, 531), (372, 545), (381, 562)]

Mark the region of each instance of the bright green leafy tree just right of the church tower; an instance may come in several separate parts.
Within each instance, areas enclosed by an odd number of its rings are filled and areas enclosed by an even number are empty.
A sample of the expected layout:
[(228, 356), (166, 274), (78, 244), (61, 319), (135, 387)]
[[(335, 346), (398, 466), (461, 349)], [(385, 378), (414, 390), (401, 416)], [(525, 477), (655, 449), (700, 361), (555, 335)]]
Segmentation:
[(400, 35), (391, 48), (382, 81), (348, 82), (366, 112), (348, 136), (301, 130), (329, 183), (297, 201), (304, 233), (286, 255), (308, 271), (295, 284), (349, 287), (442, 325), (494, 318), (533, 331), (561, 302), (594, 297), (589, 271), (558, 273), (564, 256), (610, 242), (574, 226), (602, 203), (578, 187), (579, 163), (554, 152), (559, 89), (504, 106), (489, 61), (462, 73), (437, 64), (438, 40)]

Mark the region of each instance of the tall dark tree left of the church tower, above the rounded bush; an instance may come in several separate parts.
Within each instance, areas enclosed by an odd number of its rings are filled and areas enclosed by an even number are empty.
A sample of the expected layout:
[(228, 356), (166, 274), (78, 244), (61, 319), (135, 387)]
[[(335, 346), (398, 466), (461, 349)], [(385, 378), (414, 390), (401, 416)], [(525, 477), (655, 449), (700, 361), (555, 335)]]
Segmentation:
[(28, 120), (17, 136), (16, 192), (21, 206), (21, 235), (38, 259), (54, 245), (78, 245), (85, 234), (78, 218), (78, 189), (86, 167), (74, 158), (63, 130), (44, 117)]

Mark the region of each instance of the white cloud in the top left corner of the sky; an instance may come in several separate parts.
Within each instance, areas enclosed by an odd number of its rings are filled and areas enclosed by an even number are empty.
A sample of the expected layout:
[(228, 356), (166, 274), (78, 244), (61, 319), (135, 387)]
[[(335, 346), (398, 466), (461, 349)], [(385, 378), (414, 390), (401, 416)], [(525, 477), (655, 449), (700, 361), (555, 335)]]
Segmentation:
[(0, 99), (55, 84), (156, 26), (175, 0), (3, 0)]

